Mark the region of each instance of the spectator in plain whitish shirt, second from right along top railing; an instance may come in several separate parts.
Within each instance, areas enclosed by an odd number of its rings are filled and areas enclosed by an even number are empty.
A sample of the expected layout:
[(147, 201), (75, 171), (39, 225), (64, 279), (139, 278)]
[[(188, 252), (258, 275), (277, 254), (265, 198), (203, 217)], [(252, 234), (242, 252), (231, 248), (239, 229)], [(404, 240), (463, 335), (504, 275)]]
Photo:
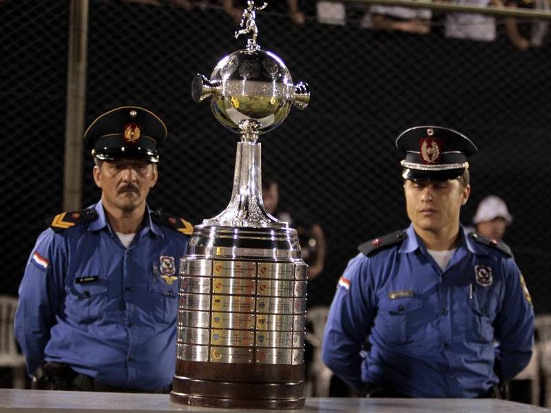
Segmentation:
[[(465, 6), (503, 6), (501, 0), (454, 0), (454, 3)], [(478, 41), (495, 41), (495, 17), (488, 14), (448, 12), (444, 25), (446, 37), (471, 39)]]

